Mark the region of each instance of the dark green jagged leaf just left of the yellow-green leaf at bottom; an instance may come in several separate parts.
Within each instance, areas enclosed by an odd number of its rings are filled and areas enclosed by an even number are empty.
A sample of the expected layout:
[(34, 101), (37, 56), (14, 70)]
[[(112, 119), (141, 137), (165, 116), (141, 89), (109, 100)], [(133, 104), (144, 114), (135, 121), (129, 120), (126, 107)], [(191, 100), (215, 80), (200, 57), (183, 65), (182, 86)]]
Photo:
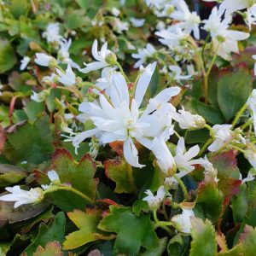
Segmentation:
[(49, 241), (59, 241), (62, 243), (62, 241), (64, 241), (65, 225), (65, 214), (58, 212), (55, 218), (51, 219), (49, 225), (40, 225), (38, 236), (26, 247), (24, 253), (32, 255), (32, 253), (36, 252), (38, 246), (45, 247)]

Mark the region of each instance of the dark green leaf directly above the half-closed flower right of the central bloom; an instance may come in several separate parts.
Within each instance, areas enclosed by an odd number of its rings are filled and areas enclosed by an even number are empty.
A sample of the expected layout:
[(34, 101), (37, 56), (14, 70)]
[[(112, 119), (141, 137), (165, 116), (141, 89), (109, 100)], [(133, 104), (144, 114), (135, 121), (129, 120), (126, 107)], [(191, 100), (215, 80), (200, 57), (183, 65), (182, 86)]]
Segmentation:
[(209, 124), (217, 125), (224, 123), (224, 115), (218, 108), (213, 108), (207, 104), (196, 101), (194, 98), (190, 98), (189, 101), (184, 102), (184, 107), (192, 113), (197, 113), (204, 117)]

